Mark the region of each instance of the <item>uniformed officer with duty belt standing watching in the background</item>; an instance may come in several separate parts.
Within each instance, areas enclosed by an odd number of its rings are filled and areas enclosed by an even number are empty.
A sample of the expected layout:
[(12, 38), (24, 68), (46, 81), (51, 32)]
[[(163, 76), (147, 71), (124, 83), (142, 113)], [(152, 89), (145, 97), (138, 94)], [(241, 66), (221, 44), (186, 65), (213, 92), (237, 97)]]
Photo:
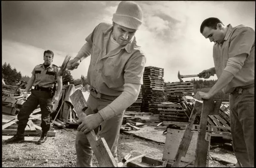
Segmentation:
[[(50, 129), (50, 113), (52, 111), (52, 103), (56, 103), (59, 99), (60, 92), (62, 90), (62, 76), (59, 75), (60, 68), (52, 64), (53, 52), (47, 50), (44, 52), (44, 63), (35, 66), (32, 71), (32, 76), (27, 83), (23, 98), (27, 98), (27, 92), (31, 88), (32, 84), (35, 89), (31, 91), (31, 95), (24, 102), (20, 112), (17, 116), (17, 133), (5, 142), (23, 142), (24, 132), (29, 119), (30, 114), (34, 111), (38, 104), (42, 112), (41, 127), (42, 135), (38, 143), (44, 143), (47, 139), (47, 132)], [(57, 94), (53, 95), (53, 87), (58, 82)]]

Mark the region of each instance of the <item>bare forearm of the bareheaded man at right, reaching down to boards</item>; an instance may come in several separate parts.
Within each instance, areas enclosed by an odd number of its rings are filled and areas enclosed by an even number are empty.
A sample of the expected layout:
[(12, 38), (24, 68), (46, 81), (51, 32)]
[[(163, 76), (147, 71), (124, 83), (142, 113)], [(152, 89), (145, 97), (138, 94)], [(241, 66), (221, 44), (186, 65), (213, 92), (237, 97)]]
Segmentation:
[(214, 96), (216, 93), (221, 91), (221, 89), (223, 89), (225, 86), (227, 86), (233, 78), (234, 78), (233, 74), (224, 70), (222, 72), (221, 76), (219, 77), (219, 79), (217, 80), (216, 84), (214, 84), (214, 86), (212, 86), (212, 88), (209, 90), (208, 93), (211, 96)]

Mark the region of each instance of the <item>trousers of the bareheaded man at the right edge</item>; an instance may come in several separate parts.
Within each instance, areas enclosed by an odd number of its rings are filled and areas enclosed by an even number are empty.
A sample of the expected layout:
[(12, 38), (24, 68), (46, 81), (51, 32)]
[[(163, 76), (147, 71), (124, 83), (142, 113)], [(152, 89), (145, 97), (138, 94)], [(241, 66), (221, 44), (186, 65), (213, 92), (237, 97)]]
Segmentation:
[(254, 167), (254, 87), (231, 93), (230, 127), (237, 161)]

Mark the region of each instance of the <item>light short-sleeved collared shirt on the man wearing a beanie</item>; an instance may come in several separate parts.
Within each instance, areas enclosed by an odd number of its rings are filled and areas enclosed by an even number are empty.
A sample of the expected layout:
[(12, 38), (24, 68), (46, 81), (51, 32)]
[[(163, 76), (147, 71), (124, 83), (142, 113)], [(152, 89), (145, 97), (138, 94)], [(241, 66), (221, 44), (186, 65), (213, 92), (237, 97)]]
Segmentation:
[(119, 96), (125, 83), (143, 84), (146, 58), (136, 45), (135, 37), (125, 46), (106, 53), (113, 26), (97, 25), (85, 39), (92, 46), (87, 79), (89, 85), (101, 94)]

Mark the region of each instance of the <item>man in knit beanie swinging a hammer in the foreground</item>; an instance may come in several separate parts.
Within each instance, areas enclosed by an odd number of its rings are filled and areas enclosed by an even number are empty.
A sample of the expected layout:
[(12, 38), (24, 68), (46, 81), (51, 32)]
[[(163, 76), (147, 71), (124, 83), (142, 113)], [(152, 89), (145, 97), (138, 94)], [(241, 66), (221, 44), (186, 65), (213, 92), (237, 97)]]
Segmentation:
[[(78, 67), (91, 55), (87, 80), (90, 95), (86, 117), (79, 119), (77, 128), (77, 166), (92, 166), (92, 148), (86, 133), (99, 131), (117, 160), (117, 142), (125, 109), (139, 95), (143, 84), (146, 58), (136, 44), (135, 33), (142, 24), (142, 9), (135, 2), (122, 1), (112, 18), (113, 24), (100, 23), (85, 39), (86, 43), (67, 68)], [(104, 166), (104, 165), (99, 165)]]

